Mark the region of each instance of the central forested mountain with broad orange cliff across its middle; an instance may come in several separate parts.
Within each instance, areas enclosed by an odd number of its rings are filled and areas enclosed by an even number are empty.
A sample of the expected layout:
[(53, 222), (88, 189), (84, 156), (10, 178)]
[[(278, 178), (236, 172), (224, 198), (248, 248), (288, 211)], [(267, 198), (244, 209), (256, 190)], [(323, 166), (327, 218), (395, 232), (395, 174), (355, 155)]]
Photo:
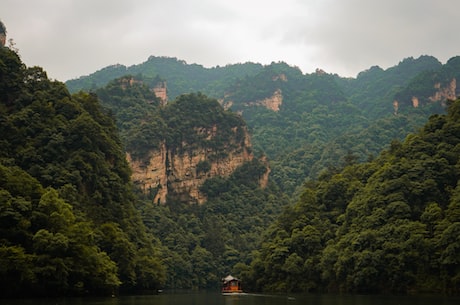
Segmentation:
[(268, 169), (253, 157), (245, 122), (200, 93), (161, 105), (133, 76), (95, 92), (117, 118), (140, 186), (138, 208), (165, 246), (166, 287), (217, 289), (222, 274), (250, 262), (288, 203), (274, 184), (261, 186)]

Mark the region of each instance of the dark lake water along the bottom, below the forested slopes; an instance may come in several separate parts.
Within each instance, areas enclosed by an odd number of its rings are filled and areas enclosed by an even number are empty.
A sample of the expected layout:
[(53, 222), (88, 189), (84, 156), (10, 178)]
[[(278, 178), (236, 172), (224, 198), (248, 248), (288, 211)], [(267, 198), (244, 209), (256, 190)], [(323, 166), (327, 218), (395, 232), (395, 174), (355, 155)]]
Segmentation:
[(459, 305), (460, 297), (162, 293), (115, 298), (1, 300), (2, 305)]

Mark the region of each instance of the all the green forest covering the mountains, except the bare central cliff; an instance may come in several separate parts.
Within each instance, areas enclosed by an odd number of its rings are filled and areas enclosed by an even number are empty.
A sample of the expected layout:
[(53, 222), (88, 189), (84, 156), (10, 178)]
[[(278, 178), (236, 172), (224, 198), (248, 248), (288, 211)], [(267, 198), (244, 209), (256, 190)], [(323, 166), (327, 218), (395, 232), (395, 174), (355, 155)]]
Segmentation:
[[(459, 62), (408, 58), (347, 79), (152, 56), (63, 84), (1, 48), (0, 285), (6, 296), (217, 289), (232, 273), (248, 291), (458, 294), (460, 101), (430, 97)], [(250, 104), (278, 90), (279, 111)], [(194, 131), (216, 123), (214, 142)], [(234, 126), (257, 158), (208, 179), (206, 203), (159, 205), (132, 184), (126, 151), (222, 149)]]

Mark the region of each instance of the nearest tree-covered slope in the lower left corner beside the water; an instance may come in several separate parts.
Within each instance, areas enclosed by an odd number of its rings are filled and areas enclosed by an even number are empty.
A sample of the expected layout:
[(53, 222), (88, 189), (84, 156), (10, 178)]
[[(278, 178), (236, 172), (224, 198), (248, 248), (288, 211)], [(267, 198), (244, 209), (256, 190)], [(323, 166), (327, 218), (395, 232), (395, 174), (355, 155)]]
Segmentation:
[[(17, 168), (1, 170), (0, 285), (8, 288), (5, 296), (107, 293), (121, 284), (115, 262), (101, 252), (92, 228), (77, 220), (56, 190), (41, 189)], [(17, 189), (19, 181), (37, 189)]]

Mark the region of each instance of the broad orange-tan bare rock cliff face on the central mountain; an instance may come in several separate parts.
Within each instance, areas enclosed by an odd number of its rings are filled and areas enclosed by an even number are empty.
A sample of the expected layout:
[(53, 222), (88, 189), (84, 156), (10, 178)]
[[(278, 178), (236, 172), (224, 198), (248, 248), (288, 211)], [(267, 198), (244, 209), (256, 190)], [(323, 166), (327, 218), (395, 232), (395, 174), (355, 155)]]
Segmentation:
[[(207, 133), (209, 138), (215, 134), (211, 130), (200, 129), (199, 133)], [(236, 129), (234, 130), (236, 139)], [(183, 143), (182, 153), (168, 149), (162, 143), (159, 149), (150, 152), (148, 164), (136, 161), (128, 154), (127, 159), (132, 168), (132, 179), (146, 194), (154, 196), (155, 203), (164, 204), (168, 195), (174, 195), (182, 201), (201, 204), (206, 197), (199, 188), (206, 179), (215, 176), (227, 177), (244, 162), (253, 159), (249, 134), (245, 132), (243, 141), (228, 143), (225, 153), (210, 148), (190, 149)], [(204, 166), (205, 165), (205, 166)], [(266, 184), (262, 177), (260, 184)]]

